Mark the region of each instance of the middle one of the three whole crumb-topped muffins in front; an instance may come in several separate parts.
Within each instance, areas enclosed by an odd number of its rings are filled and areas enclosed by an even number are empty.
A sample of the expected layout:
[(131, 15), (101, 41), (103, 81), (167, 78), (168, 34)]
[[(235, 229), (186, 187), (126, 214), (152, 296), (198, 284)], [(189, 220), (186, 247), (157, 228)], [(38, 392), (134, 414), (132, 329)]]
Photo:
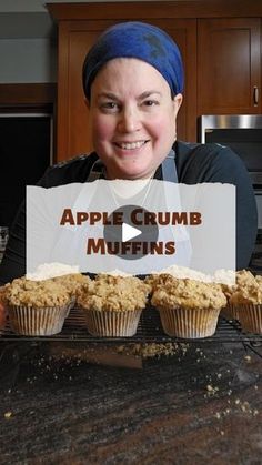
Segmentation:
[(130, 337), (137, 333), (149, 286), (138, 277), (101, 274), (83, 286), (77, 302), (93, 336)]

